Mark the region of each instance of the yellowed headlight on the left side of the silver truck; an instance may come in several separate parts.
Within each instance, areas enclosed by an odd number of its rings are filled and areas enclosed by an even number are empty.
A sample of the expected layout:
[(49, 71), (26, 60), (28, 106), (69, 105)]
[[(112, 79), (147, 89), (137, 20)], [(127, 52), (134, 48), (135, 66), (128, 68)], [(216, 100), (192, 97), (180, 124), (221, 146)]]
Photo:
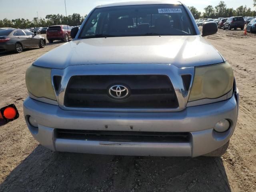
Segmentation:
[(30, 66), (26, 71), (26, 86), (28, 91), (36, 97), (56, 100), (49, 68)]

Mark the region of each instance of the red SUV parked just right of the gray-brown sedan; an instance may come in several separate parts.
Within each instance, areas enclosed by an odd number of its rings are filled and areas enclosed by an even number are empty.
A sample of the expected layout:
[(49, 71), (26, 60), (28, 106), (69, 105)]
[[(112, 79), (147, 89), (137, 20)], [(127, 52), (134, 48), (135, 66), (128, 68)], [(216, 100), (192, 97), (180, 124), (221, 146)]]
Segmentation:
[(54, 40), (63, 40), (68, 42), (71, 27), (68, 25), (53, 25), (47, 29), (46, 38), (52, 43)]

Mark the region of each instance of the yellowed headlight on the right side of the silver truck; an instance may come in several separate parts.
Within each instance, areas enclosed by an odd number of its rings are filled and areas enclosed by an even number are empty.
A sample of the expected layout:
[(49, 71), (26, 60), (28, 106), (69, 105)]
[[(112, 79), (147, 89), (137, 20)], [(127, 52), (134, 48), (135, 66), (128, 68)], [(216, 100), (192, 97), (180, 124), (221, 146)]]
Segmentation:
[(228, 62), (196, 67), (188, 101), (219, 98), (232, 90), (233, 83), (234, 74)]

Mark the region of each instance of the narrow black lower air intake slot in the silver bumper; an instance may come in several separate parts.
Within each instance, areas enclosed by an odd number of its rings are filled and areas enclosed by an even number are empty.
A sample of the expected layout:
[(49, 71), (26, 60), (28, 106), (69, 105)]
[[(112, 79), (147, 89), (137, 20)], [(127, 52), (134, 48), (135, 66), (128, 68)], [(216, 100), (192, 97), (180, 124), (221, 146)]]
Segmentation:
[(109, 142), (189, 142), (188, 132), (132, 132), (57, 129), (56, 138)]

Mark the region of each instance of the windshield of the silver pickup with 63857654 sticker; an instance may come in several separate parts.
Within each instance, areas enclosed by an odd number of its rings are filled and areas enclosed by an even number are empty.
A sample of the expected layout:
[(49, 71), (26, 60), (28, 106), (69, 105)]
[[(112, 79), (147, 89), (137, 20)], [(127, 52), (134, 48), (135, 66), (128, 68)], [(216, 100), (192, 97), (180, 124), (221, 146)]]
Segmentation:
[(195, 35), (194, 26), (181, 5), (136, 5), (94, 10), (79, 38)]

